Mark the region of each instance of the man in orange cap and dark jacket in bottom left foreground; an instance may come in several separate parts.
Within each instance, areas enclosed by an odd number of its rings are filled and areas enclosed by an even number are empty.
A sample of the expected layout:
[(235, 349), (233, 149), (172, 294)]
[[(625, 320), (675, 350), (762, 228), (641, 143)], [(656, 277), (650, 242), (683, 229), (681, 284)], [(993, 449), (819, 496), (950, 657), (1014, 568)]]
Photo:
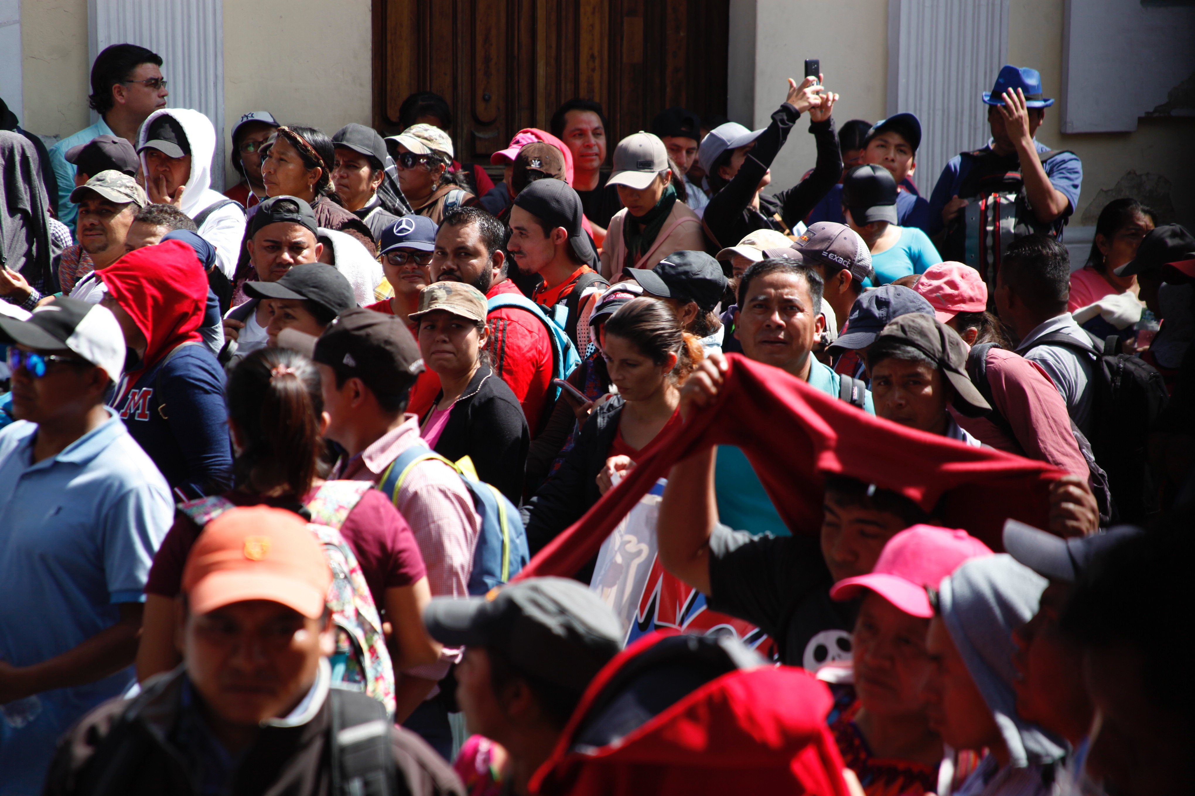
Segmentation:
[(183, 665), (90, 712), (60, 745), (45, 794), (464, 796), (380, 703), (330, 687), (332, 574), (295, 513), (216, 517), (182, 581)]

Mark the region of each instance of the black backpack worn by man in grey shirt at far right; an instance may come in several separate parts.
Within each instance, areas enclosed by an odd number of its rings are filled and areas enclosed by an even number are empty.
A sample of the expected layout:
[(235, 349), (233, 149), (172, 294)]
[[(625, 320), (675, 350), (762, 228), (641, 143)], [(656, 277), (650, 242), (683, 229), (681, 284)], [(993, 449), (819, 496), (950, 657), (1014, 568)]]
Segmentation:
[(1142, 524), (1162, 510), (1159, 485), (1146, 451), (1150, 428), (1170, 402), (1162, 374), (1140, 357), (1119, 353), (1115, 335), (1103, 343), (1092, 337), (1085, 344), (1053, 332), (1035, 340), (1030, 350), (1041, 345), (1061, 346), (1092, 359), (1091, 450), (1108, 473), (1119, 522)]

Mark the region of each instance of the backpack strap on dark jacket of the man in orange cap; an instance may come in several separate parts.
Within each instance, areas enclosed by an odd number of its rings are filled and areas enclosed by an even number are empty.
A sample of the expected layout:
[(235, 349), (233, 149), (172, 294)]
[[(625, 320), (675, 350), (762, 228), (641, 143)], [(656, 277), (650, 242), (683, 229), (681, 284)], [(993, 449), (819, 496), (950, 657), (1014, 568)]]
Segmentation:
[(375, 699), (331, 689), (331, 796), (397, 796), (390, 720)]

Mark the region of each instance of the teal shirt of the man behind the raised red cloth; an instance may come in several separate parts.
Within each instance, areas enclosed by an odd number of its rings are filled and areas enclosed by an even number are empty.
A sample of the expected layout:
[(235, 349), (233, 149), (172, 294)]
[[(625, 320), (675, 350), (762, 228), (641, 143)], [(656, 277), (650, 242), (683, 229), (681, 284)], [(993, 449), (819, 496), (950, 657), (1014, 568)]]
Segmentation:
[[(838, 397), (842, 378), (816, 359), (809, 368), (809, 385), (827, 395)], [(868, 414), (875, 414), (871, 390), (864, 393)], [(718, 499), (718, 520), (735, 530), (755, 536), (772, 533), (790, 536), (788, 526), (777, 513), (772, 499), (764, 490), (746, 453), (734, 445), (718, 445), (718, 459), (713, 470), (713, 490)]]

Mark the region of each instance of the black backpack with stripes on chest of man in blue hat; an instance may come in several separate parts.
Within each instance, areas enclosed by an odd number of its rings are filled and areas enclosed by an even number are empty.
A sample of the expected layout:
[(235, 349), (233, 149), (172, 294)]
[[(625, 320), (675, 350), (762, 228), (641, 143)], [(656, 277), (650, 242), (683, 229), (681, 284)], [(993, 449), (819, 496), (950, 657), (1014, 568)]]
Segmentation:
[[(1038, 156), (1044, 166), (1064, 152), (1070, 150), (1042, 152)], [(966, 263), (979, 271), (991, 296), (1000, 259), (1012, 241), (1034, 233), (1058, 237), (1066, 222), (1037, 221), (1016, 155), (998, 155), (985, 147), (964, 152), (960, 158), (972, 165), (958, 187), (958, 198), (967, 199), (968, 204), (948, 224), (939, 248), (944, 259)]]

